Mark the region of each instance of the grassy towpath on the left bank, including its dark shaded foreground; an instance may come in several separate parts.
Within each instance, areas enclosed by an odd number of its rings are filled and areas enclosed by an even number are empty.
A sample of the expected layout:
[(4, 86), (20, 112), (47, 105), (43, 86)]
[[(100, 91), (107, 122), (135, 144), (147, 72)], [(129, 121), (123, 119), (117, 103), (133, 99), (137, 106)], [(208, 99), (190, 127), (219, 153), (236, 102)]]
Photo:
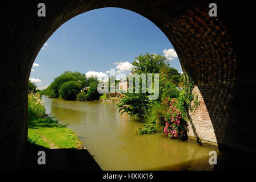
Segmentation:
[[(20, 170), (101, 170), (75, 132), (45, 113), (39, 94), (29, 93), (28, 110), (27, 147)], [(38, 151), (45, 152), (45, 165), (37, 163)]]

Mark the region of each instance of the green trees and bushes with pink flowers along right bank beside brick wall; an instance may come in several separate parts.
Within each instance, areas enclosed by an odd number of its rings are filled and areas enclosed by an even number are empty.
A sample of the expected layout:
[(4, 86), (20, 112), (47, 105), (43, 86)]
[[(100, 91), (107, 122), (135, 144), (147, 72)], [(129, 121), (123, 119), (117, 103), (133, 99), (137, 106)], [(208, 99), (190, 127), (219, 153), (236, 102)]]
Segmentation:
[[(159, 73), (159, 98), (149, 100), (148, 93), (127, 93), (118, 104), (119, 111), (150, 123), (138, 128), (137, 134), (154, 133), (159, 124), (165, 126), (164, 132), (168, 137), (186, 139), (189, 110), (195, 110), (199, 105), (198, 96), (192, 93), (193, 79), (187, 73), (181, 75), (177, 69), (171, 68), (161, 55), (140, 55), (133, 65), (133, 73)], [(179, 85), (183, 86), (181, 92), (176, 88)]]

